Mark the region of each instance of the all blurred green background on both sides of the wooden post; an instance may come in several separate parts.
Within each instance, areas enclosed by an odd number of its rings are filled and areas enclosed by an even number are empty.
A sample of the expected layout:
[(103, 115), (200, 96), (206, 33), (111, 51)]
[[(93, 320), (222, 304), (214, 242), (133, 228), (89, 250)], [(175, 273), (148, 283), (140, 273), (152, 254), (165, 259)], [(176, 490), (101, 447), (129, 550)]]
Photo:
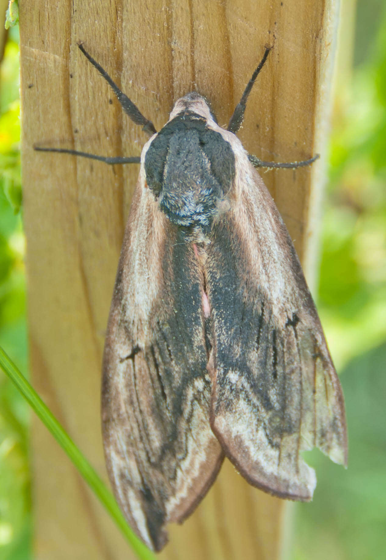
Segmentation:
[[(307, 454), (318, 486), (294, 506), (292, 560), (386, 557), (386, 4), (343, 0), (343, 18), (317, 304), (345, 394), (349, 469)], [(0, 49), (0, 345), (27, 372), (17, 27)], [(31, 558), (28, 424), (0, 372), (0, 560)]]

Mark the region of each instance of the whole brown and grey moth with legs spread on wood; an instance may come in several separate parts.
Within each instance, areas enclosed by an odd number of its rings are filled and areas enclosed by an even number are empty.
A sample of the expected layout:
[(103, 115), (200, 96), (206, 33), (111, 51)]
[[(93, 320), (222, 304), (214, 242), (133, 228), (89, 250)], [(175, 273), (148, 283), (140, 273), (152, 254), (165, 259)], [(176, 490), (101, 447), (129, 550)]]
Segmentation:
[(150, 136), (125, 230), (103, 354), (102, 431), (116, 499), (149, 548), (167, 542), (227, 456), (253, 486), (307, 501), (319, 447), (347, 463), (342, 390), (288, 231), (236, 133), (204, 97), (178, 99), (157, 132), (109, 75)]

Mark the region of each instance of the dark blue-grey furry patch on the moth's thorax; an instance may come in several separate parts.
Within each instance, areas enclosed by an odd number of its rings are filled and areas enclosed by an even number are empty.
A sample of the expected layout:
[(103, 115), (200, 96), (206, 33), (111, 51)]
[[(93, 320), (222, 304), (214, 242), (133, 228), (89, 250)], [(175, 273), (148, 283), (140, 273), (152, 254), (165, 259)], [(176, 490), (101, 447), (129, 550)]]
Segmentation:
[(184, 228), (210, 230), (217, 202), (232, 184), (235, 164), (230, 144), (185, 111), (167, 123), (145, 156), (146, 181), (159, 208)]

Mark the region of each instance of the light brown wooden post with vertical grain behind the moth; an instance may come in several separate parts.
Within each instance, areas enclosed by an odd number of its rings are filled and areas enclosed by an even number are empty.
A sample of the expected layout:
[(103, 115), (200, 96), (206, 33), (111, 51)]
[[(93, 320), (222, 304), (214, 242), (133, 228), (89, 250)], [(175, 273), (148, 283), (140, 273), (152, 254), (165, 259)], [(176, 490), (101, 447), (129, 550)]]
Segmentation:
[[(264, 160), (321, 153), (312, 167), (262, 174), (312, 278), (336, 17), (335, 0), (20, 4), (32, 383), (103, 476), (103, 337), (138, 166), (109, 167), (32, 146), (66, 141), (100, 155), (138, 156), (147, 137), (122, 114), (77, 41), (158, 130), (176, 99), (191, 90), (208, 97), (219, 123), (228, 123), (265, 46), (274, 46), (239, 137)], [(134, 558), (35, 419), (31, 458), (37, 560)], [(225, 463), (194, 515), (170, 527), (160, 557), (278, 559), (286, 550), (285, 509), (286, 502), (248, 486)]]

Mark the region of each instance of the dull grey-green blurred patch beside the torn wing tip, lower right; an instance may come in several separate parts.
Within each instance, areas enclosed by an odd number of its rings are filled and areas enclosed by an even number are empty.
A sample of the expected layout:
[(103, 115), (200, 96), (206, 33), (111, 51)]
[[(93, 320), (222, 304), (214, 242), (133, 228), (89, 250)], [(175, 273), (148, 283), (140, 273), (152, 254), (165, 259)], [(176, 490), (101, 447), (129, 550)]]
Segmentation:
[(296, 505), (293, 560), (383, 560), (386, 526), (386, 344), (352, 360), (342, 372), (349, 468), (318, 451), (312, 503)]

